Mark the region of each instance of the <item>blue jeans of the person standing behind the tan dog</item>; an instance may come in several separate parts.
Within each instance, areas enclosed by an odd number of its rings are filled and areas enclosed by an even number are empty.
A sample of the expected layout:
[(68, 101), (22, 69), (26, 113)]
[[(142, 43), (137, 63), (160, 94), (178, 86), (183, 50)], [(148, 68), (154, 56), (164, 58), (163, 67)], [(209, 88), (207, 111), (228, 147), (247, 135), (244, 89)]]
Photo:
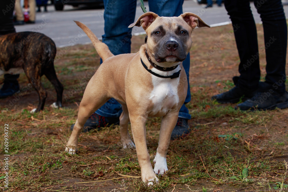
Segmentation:
[[(149, 1), (149, 10), (159, 16), (179, 16), (182, 14), (183, 1), (184, 0)], [(128, 26), (134, 22), (136, 3), (136, 0), (104, 0), (105, 35), (102, 36), (102, 41), (108, 45), (109, 50), (114, 55), (131, 52), (132, 28), (128, 28)], [(187, 58), (183, 61), (183, 68), (188, 80), (188, 91), (185, 99), (186, 104), (191, 100), (189, 85), (190, 54), (188, 54)], [(122, 107), (119, 102), (111, 98), (95, 113), (104, 117), (119, 117), (122, 113)], [(191, 115), (184, 104), (179, 111), (179, 117), (191, 119)]]

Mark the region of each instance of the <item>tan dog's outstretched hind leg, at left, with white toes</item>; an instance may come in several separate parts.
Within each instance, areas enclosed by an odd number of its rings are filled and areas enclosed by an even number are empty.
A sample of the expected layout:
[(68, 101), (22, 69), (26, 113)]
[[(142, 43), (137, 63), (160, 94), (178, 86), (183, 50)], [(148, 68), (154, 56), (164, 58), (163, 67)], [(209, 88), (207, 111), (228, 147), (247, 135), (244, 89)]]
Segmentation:
[(105, 85), (96, 81), (96, 78), (94, 75), (90, 79), (80, 102), (78, 118), (65, 149), (70, 154), (75, 154), (78, 151), (78, 138), (88, 117), (110, 99), (107, 96)]

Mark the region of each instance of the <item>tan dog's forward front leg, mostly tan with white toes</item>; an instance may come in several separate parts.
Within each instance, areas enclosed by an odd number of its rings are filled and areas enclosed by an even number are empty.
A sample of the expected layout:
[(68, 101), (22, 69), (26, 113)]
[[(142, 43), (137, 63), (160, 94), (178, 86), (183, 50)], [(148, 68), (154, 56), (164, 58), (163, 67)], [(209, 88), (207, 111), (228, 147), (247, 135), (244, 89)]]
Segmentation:
[(153, 184), (154, 179), (158, 181), (156, 177), (151, 162), (150, 155), (147, 150), (146, 143), (146, 119), (147, 117), (142, 117), (141, 115), (129, 115), (130, 123), (132, 128), (132, 134), (136, 146), (137, 157), (139, 161), (139, 166), (141, 168), (141, 178), (144, 182), (148, 182), (148, 185)]

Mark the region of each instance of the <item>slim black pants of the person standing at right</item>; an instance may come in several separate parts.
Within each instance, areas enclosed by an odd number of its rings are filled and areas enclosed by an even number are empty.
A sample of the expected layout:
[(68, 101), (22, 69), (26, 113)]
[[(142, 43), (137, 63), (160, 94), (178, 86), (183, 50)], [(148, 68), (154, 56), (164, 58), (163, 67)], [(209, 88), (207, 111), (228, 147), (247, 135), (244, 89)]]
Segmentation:
[[(225, 0), (240, 56), (238, 86), (256, 89), (260, 79), (259, 51), (255, 21), (249, 0)], [(266, 83), (285, 92), (287, 24), (281, 0), (254, 0), (263, 22), (266, 52)]]

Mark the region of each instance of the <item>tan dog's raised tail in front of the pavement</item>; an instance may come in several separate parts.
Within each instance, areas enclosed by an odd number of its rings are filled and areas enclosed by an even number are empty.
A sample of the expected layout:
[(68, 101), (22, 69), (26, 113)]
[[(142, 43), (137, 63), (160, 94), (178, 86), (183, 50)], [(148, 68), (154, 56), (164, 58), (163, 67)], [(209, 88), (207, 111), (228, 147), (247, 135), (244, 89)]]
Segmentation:
[(89, 39), (92, 41), (97, 53), (100, 55), (101, 59), (105, 61), (107, 58), (114, 56), (109, 50), (108, 46), (105, 43), (99, 41), (96, 35), (83, 23), (79, 21), (74, 21), (83, 31), (87, 34)]

